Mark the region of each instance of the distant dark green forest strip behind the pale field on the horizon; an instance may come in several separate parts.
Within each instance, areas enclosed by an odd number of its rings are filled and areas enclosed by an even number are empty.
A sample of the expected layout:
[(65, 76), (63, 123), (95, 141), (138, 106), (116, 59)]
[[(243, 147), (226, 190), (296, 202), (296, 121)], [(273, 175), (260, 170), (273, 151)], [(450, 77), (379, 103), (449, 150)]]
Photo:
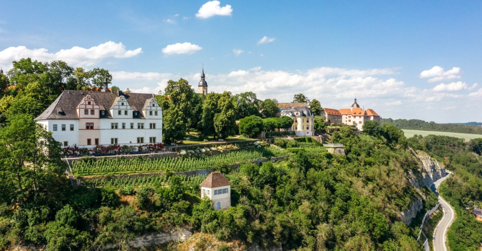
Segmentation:
[(461, 134), (480, 134), (482, 135), (482, 127), (468, 126), (456, 123), (435, 123), (434, 121), (426, 122), (420, 119), (380, 119), (381, 124), (393, 124), (397, 128), (407, 130), (421, 130), (433, 132), (449, 132)]

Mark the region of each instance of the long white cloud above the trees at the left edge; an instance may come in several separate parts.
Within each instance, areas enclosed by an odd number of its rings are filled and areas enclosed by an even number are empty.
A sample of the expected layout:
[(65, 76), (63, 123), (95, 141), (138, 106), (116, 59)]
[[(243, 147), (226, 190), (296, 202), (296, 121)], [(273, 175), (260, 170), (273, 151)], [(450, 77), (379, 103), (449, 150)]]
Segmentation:
[(130, 58), (140, 53), (142, 53), (142, 48), (126, 50), (126, 46), (122, 43), (112, 41), (88, 49), (74, 46), (71, 49), (63, 49), (56, 53), (49, 53), (48, 49), (45, 48), (28, 49), (25, 46), (18, 46), (0, 51), (0, 64), (11, 68), (12, 61), (30, 57), (42, 62), (62, 60), (73, 66), (91, 66), (104, 58)]

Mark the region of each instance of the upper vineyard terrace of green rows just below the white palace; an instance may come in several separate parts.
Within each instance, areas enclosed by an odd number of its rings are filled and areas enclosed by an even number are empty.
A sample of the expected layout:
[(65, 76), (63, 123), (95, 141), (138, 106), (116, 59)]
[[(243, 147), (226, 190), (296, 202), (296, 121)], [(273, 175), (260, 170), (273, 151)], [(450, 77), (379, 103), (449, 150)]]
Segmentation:
[(72, 170), (75, 176), (165, 172), (167, 170), (181, 172), (212, 168), (220, 162), (235, 164), (285, 155), (287, 155), (286, 150), (262, 147), (206, 157), (86, 159), (74, 162)]

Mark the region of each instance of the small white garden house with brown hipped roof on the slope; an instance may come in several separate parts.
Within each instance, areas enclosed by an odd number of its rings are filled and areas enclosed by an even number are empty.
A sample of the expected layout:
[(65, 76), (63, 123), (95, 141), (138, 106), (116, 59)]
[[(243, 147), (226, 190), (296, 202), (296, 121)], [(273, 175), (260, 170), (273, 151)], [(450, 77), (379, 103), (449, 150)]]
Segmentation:
[(231, 183), (220, 172), (212, 172), (199, 186), (201, 198), (211, 199), (215, 210), (231, 206)]

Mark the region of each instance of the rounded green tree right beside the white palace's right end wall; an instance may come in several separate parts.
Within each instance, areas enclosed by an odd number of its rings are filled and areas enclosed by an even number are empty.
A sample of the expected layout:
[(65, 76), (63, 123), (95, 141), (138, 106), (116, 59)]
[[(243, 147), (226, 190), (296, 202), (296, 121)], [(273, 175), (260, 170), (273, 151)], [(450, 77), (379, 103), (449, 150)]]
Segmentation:
[(176, 106), (171, 106), (163, 115), (164, 141), (172, 143), (181, 141), (186, 136), (186, 123), (181, 111)]

